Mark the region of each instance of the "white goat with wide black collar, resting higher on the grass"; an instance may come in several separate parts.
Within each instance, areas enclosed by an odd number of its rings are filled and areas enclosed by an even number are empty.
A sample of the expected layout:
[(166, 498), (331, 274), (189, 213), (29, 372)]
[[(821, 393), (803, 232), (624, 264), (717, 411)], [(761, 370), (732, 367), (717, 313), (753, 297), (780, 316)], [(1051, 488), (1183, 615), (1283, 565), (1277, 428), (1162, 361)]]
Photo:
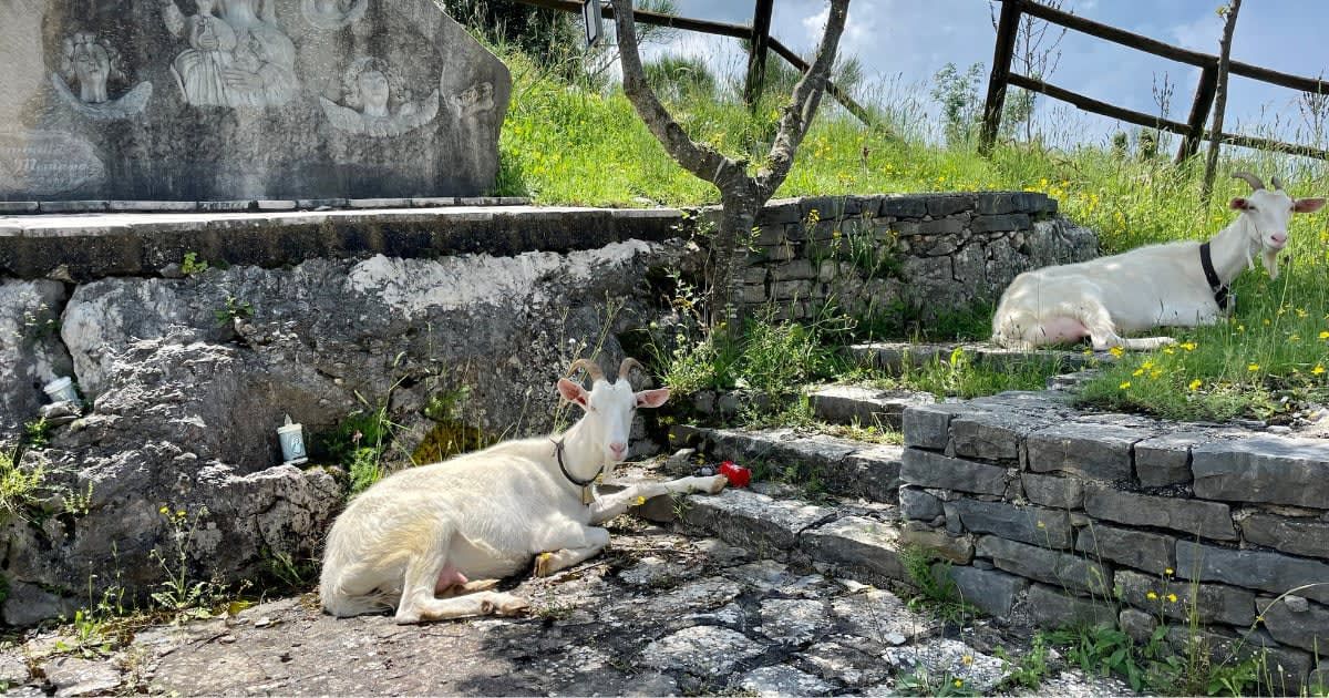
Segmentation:
[(1275, 190), (1248, 173), (1233, 177), (1251, 195), (1229, 206), (1240, 214), (1205, 243), (1150, 245), (1088, 262), (1026, 271), (1002, 295), (993, 316), (993, 342), (1010, 348), (1078, 342), (1098, 351), (1152, 350), (1168, 336), (1127, 339), (1159, 326), (1213, 324), (1228, 306), (1228, 286), (1264, 251), (1264, 269), (1278, 277), (1278, 251), (1288, 245), (1288, 219), (1324, 206), (1322, 198), (1292, 199), (1277, 177)]

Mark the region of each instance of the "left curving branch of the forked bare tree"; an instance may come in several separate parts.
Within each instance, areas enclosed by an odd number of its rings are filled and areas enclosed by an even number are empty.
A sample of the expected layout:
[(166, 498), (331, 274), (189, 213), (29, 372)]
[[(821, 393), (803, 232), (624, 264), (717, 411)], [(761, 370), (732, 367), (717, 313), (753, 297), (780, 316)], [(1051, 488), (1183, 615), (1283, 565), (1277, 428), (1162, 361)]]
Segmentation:
[(735, 173), (746, 174), (742, 164), (708, 145), (688, 138), (683, 128), (674, 121), (674, 117), (661, 104), (659, 97), (655, 96), (655, 90), (646, 82), (642, 57), (637, 48), (633, 0), (613, 0), (613, 4), (614, 24), (618, 28), (619, 62), (623, 66), (623, 93), (633, 102), (637, 114), (646, 122), (646, 128), (651, 130), (674, 161), (718, 187), (720, 181)]

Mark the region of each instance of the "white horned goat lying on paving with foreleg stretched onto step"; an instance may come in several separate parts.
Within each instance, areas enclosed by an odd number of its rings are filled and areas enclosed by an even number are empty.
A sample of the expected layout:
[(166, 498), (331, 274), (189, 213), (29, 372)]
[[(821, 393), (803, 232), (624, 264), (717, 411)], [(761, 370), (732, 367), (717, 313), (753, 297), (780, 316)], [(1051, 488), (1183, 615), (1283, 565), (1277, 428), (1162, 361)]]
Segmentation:
[[(526, 602), (490, 590), (532, 564), (548, 576), (599, 553), (594, 528), (637, 501), (724, 488), (723, 475), (629, 487), (595, 500), (595, 479), (627, 455), (639, 407), (659, 407), (668, 388), (633, 392), (623, 359), (614, 383), (586, 359), (591, 390), (561, 379), (558, 392), (586, 413), (562, 439), (504, 441), (445, 463), (397, 472), (347, 505), (328, 534), (319, 594), (334, 616), (396, 606), (400, 624), (461, 616), (512, 616)], [(470, 581), (481, 580), (481, 581)]]

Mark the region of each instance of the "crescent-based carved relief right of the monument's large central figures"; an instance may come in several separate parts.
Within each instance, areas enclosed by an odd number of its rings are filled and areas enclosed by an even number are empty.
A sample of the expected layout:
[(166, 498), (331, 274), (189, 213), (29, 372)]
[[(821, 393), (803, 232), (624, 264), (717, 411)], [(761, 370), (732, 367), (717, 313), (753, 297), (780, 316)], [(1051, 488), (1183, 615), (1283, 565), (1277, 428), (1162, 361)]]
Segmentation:
[(372, 137), (400, 136), (439, 114), (439, 90), (412, 100), (411, 90), (383, 58), (356, 58), (342, 77), (342, 104), (319, 97), (332, 128)]

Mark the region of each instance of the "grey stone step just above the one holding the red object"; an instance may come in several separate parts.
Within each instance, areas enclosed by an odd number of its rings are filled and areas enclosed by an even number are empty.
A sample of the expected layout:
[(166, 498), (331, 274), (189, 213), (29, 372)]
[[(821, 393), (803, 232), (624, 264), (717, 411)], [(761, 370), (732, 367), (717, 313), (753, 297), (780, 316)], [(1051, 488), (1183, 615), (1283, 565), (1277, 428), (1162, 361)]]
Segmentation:
[[(715, 460), (734, 460), (758, 472), (797, 468), (803, 480), (832, 495), (898, 504), (904, 447), (869, 444), (795, 429), (674, 429), (678, 445), (698, 448)], [(676, 475), (686, 475), (678, 472)]]

